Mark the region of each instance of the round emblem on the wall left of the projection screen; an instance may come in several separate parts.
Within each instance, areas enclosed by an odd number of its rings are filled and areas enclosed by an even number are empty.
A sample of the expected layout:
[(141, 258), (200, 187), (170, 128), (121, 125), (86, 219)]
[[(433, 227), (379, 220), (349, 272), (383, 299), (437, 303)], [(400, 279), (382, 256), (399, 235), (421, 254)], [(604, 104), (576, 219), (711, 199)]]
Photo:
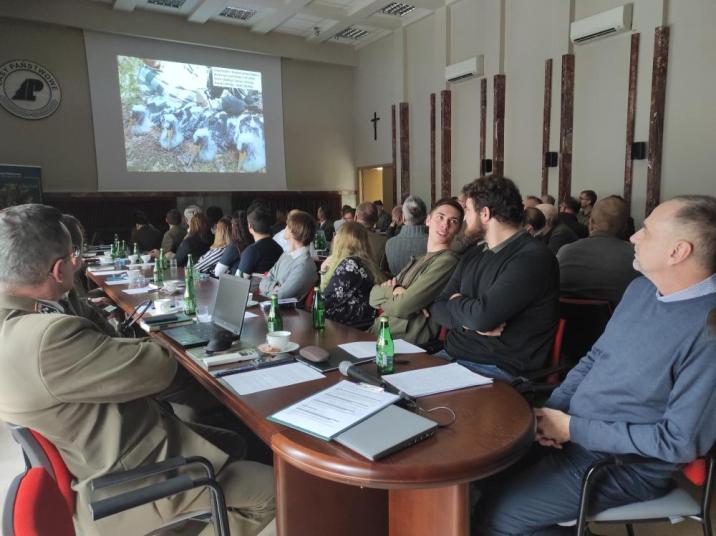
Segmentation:
[(55, 76), (42, 65), (12, 60), (0, 65), (0, 106), (23, 119), (55, 113), (62, 93)]

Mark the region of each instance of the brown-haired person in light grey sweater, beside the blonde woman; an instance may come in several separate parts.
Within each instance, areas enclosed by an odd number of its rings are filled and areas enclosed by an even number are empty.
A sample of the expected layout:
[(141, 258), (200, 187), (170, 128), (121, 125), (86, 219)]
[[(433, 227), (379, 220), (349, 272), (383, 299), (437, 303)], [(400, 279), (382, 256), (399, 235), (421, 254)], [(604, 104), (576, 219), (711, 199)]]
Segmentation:
[(261, 279), (261, 294), (270, 296), (275, 292), (279, 299), (298, 300), (308, 294), (318, 280), (318, 269), (308, 249), (315, 232), (316, 222), (310, 214), (300, 210), (291, 212), (284, 230), (288, 251)]

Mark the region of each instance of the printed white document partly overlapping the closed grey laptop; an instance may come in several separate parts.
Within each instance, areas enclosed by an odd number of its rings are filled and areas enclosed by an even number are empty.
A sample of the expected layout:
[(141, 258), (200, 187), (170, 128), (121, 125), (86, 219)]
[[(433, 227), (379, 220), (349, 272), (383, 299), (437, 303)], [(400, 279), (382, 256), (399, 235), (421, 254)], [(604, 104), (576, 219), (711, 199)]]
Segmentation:
[(274, 413), (269, 420), (328, 441), (398, 398), (380, 389), (343, 380)]

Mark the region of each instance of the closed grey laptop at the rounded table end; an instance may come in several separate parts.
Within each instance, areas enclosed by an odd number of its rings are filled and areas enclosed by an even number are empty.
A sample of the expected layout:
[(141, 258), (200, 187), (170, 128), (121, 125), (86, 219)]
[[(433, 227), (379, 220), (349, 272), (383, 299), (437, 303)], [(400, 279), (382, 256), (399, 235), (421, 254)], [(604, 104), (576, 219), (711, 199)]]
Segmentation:
[(438, 425), (430, 419), (391, 405), (335, 437), (369, 460), (378, 460), (427, 439)]

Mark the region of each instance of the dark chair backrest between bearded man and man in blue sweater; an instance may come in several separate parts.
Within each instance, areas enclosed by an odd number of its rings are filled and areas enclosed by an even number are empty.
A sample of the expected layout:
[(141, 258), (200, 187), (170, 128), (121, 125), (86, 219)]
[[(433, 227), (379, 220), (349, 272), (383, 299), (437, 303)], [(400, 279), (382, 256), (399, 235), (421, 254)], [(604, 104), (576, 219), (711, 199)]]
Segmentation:
[(612, 312), (607, 300), (560, 298), (559, 316), (567, 321), (562, 341), (564, 358), (576, 363), (584, 357), (604, 333)]

